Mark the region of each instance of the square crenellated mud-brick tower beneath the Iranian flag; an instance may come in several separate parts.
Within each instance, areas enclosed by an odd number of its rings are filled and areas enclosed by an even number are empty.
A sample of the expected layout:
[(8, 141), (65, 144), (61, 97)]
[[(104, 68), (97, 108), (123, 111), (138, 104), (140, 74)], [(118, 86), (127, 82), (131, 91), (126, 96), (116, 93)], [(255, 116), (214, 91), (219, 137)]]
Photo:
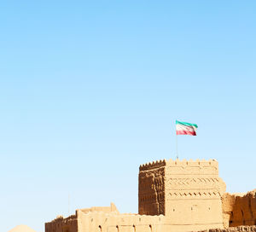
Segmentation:
[(168, 223), (194, 229), (223, 224), (221, 195), (226, 187), (215, 159), (164, 159), (141, 165), (138, 188), (139, 214), (163, 214)]

